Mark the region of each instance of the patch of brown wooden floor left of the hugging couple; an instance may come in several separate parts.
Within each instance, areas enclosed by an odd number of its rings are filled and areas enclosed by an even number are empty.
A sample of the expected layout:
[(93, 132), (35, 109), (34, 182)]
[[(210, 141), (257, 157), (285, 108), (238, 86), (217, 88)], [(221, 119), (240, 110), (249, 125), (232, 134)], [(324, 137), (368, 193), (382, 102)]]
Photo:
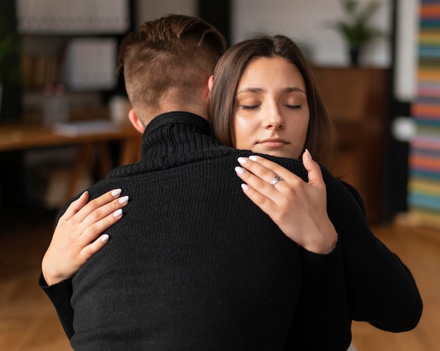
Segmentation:
[(0, 217), (0, 350), (72, 350), (55, 309), (38, 286), (55, 214), (28, 215)]

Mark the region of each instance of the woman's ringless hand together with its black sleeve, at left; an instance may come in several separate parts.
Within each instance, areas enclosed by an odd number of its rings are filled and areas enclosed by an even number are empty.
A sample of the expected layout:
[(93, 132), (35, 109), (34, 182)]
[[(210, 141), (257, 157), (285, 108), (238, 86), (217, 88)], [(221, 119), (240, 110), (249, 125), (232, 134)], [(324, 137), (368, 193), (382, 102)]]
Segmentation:
[(89, 194), (72, 201), (56, 225), (51, 244), (41, 262), (39, 286), (56, 308), (68, 338), (74, 335), (72, 277), (91, 256), (102, 249), (108, 235), (102, 232), (122, 218), (128, 197), (112, 190), (89, 203)]

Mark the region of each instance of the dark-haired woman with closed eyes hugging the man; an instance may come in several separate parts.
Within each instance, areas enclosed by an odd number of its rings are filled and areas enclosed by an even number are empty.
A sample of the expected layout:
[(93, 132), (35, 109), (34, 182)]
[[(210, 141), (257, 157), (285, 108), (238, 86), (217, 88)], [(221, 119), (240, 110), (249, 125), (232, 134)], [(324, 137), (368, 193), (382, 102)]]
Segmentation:
[[(215, 74), (210, 112), (216, 137), (226, 145), (259, 153), (238, 160), (236, 172), (246, 183), (242, 186), (245, 194), (287, 237), (309, 251), (330, 253), (338, 232), (352, 319), (389, 331), (413, 328), (420, 317), (414, 311), (420, 312), (421, 307), (417, 287), (408, 283), (410, 272), (370, 233), (360, 208), (353, 208), (354, 201), (345, 201), (349, 193), (341, 194), (341, 187), (325, 168), (321, 169), (328, 183), (313, 174), (309, 175), (313, 181), (305, 183), (261, 157), (302, 156), (307, 169), (312, 163), (310, 154), (320, 162), (330, 157), (330, 123), (297, 46), (281, 36), (244, 41), (227, 51)], [(63, 216), (71, 228), (87, 233), (79, 245), (79, 251), (86, 253), (78, 260), (79, 266), (105, 244), (106, 237), (89, 242), (120, 216), (115, 212), (123, 206), (115, 199), (118, 196), (117, 192), (106, 194), (89, 204), (84, 196)], [(389, 267), (389, 272), (383, 267)], [(395, 286), (405, 289), (396, 294)], [(413, 305), (413, 317), (400, 324), (403, 312), (398, 309), (406, 301)]]

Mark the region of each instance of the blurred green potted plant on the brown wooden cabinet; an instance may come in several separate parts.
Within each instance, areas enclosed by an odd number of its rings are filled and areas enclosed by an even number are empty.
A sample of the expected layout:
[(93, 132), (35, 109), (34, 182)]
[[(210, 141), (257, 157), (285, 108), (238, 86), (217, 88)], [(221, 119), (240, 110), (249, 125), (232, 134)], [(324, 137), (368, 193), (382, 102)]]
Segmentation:
[(330, 27), (342, 35), (347, 43), (351, 65), (358, 65), (359, 55), (365, 44), (383, 35), (380, 29), (369, 22), (380, 7), (380, 1), (369, 1), (363, 8), (356, 0), (339, 0), (344, 11), (344, 20), (330, 23)]

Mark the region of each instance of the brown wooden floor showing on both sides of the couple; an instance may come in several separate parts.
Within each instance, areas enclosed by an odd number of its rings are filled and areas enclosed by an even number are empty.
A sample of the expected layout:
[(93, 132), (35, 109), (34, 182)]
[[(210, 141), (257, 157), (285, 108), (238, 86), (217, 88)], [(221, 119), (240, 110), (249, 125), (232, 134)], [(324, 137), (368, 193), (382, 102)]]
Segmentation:
[[(31, 217), (30, 223), (0, 218), (0, 350), (72, 350), (55, 310), (37, 285), (53, 217), (39, 218), (38, 213)], [(417, 328), (406, 333), (354, 322), (354, 345), (358, 351), (440, 350), (440, 231), (401, 224), (373, 231), (410, 267), (425, 308)]]

